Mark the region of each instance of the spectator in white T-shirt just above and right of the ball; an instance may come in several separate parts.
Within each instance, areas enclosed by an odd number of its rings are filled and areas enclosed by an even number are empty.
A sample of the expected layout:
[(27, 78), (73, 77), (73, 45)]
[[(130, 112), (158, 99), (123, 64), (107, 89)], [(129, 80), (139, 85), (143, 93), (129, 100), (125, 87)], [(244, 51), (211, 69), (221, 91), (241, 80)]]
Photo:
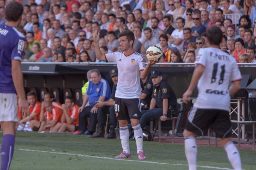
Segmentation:
[(181, 17), (178, 17), (176, 19), (177, 29), (175, 29), (172, 32), (172, 35), (168, 40), (169, 42), (172, 43), (172, 47), (177, 48), (178, 50), (182, 50), (182, 48), (183, 48), (183, 42), (184, 42), (183, 28), (184, 28), (184, 25), (185, 25), (185, 20)]

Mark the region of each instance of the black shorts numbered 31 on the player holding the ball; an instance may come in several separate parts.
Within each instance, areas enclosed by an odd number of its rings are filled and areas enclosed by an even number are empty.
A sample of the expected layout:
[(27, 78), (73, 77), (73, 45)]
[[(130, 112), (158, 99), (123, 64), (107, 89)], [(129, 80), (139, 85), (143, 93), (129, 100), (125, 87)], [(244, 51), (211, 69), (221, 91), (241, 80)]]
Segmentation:
[(140, 120), (140, 99), (115, 98), (115, 113), (118, 120)]

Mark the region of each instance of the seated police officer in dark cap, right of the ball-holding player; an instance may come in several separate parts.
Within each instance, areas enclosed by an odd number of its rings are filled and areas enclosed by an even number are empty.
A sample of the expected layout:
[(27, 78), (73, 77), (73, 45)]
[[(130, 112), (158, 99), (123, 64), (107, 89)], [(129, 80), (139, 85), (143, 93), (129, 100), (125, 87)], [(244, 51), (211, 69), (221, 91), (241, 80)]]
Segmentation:
[(176, 95), (172, 88), (163, 81), (160, 71), (151, 71), (151, 78), (154, 84), (150, 108), (141, 111), (140, 126), (143, 128), (151, 119), (166, 121), (176, 107)]

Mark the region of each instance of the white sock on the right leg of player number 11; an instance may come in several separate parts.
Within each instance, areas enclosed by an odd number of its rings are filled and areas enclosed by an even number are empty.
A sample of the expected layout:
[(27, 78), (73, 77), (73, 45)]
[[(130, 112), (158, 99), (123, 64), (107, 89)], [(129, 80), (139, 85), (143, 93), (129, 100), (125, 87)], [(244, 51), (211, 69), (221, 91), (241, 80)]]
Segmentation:
[(242, 170), (241, 159), (239, 155), (239, 151), (237, 150), (235, 144), (233, 142), (228, 142), (224, 149), (227, 152), (227, 158), (230, 160), (230, 163), (234, 170)]

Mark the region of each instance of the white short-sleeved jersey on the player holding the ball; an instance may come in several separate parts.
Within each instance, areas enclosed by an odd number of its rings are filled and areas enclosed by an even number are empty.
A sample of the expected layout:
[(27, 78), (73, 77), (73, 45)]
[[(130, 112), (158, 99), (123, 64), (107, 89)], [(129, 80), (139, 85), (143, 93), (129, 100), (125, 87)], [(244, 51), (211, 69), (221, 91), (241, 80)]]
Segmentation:
[(118, 82), (115, 97), (122, 99), (140, 98), (140, 71), (146, 67), (145, 57), (134, 51), (125, 56), (123, 51), (105, 54), (107, 62), (116, 62)]

